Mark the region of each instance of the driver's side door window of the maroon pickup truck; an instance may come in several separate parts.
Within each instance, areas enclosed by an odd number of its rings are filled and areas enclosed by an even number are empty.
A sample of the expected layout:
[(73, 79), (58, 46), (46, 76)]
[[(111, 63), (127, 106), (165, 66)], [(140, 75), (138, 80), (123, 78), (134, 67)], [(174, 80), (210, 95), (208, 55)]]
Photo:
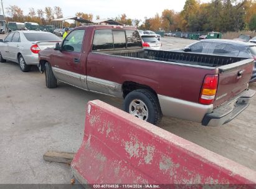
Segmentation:
[(64, 40), (62, 49), (72, 52), (81, 52), (85, 30), (74, 30)]

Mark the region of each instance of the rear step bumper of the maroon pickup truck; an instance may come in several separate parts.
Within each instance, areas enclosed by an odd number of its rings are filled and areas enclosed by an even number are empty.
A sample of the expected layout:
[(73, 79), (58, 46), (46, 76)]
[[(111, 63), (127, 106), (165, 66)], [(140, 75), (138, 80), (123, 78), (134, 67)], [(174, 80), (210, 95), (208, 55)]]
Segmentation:
[(222, 126), (232, 121), (245, 108), (249, 106), (250, 99), (254, 96), (254, 90), (246, 90), (230, 100), (228, 103), (214, 109), (202, 119), (203, 126)]

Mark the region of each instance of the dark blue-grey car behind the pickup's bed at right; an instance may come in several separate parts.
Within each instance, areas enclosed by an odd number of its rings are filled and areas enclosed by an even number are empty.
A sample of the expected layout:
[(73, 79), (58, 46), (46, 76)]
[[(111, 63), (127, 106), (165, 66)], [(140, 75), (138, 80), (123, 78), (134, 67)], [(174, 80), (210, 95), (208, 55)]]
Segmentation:
[(195, 42), (179, 51), (253, 58), (254, 70), (250, 81), (256, 81), (256, 44), (238, 40), (207, 39)]

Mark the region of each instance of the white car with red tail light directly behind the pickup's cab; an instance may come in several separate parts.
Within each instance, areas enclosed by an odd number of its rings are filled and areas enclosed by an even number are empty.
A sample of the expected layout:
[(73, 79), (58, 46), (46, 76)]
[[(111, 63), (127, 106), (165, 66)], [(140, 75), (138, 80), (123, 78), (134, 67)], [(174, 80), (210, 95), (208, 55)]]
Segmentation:
[(162, 43), (154, 35), (141, 35), (143, 48), (159, 50)]

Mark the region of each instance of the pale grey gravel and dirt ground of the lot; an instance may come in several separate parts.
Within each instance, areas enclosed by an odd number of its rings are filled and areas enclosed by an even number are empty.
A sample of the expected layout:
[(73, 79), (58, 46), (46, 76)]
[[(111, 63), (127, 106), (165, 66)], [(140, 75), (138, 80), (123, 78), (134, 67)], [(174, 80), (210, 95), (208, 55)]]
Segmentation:
[[(164, 50), (195, 42), (174, 37), (161, 41)], [(64, 83), (50, 90), (36, 67), (22, 73), (11, 62), (0, 63), (0, 78), (0, 184), (70, 183), (69, 165), (45, 162), (42, 155), (47, 150), (76, 152), (88, 101), (100, 99), (117, 108), (123, 101)], [(250, 88), (256, 89), (256, 83)], [(256, 170), (255, 113), (256, 97), (249, 108), (222, 127), (204, 127), (176, 118), (163, 118), (160, 127)]]

